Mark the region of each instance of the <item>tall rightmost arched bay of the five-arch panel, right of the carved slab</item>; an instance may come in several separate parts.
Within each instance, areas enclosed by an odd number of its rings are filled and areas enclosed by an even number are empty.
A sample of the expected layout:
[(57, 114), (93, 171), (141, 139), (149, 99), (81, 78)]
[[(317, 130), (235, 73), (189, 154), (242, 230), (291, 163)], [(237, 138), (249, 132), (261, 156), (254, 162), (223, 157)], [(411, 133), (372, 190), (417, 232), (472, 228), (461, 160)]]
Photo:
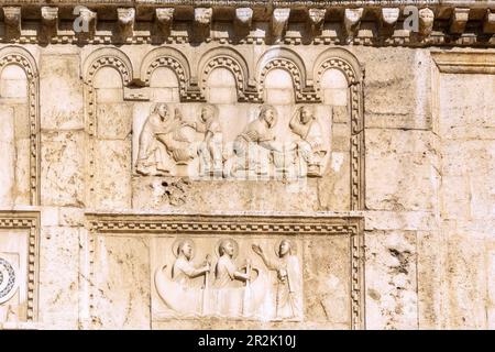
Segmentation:
[(330, 165), (336, 174), (340, 174), (331, 185), (331, 191), (348, 189), (350, 195), (349, 205), (345, 200), (334, 206), (351, 210), (364, 208), (363, 76), (364, 69), (358, 58), (343, 48), (327, 50), (315, 61), (316, 91), (322, 103), (331, 109)]

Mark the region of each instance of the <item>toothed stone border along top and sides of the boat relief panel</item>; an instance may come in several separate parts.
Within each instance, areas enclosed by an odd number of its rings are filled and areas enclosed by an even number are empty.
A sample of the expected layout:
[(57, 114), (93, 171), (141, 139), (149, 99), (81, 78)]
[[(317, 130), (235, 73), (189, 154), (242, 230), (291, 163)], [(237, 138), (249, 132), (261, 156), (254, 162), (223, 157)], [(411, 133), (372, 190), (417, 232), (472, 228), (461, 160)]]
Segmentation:
[[(88, 229), (88, 282), (95, 282), (96, 239), (101, 234), (273, 234), (273, 235), (349, 235), (350, 239), (350, 329), (365, 329), (364, 219), (338, 216), (246, 216), (246, 215), (142, 215), (86, 213)], [(94, 320), (96, 287), (87, 289), (89, 316)]]

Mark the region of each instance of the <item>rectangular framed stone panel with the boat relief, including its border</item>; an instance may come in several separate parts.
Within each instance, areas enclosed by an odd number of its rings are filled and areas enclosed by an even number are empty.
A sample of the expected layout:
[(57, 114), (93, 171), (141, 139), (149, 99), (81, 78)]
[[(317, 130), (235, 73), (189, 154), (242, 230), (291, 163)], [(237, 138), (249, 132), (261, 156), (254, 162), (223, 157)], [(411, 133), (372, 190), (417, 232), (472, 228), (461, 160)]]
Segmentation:
[(89, 218), (94, 328), (363, 328), (360, 219)]

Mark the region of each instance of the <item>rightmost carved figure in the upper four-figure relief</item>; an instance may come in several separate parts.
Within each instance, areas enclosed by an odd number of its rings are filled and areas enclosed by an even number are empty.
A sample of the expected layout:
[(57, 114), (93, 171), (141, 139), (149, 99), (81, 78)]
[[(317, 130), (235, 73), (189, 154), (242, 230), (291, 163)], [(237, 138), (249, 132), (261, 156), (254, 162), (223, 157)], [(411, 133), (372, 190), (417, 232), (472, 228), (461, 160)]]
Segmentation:
[(314, 109), (307, 106), (298, 108), (290, 119), (289, 128), (300, 138), (296, 142), (297, 153), (307, 163), (307, 175), (321, 176), (323, 157), (328, 150), (323, 144), (321, 125)]

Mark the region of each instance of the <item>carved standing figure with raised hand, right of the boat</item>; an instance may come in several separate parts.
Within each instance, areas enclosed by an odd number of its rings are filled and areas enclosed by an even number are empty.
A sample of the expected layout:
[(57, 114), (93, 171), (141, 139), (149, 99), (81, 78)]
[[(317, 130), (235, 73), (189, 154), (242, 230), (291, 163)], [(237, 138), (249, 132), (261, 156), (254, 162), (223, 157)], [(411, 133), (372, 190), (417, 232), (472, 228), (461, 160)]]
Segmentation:
[(290, 242), (288, 240), (280, 241), (276, 249), (276, 260), (271, 260), (257, 244), (253, 244), (252, 249), (254, 253), (261, 256), (268, 270), (277, 273), (276, 318), (300, 318), (302, 316), (302, 278), (299, 260), (293, 254), (295, 249), (293, 249)]

